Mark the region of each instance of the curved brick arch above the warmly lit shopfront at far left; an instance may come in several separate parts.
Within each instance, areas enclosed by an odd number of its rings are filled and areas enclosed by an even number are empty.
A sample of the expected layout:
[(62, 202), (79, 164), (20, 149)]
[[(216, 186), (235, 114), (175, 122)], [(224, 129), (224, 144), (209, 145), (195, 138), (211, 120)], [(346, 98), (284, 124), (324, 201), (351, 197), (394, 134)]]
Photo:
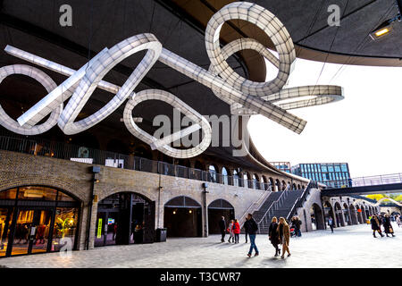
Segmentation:
[(0, 181), (0, 191), (24, 186), (43, 186), (60, 189), (63, 193), (71, 196), (71, 198), (75, 198), (81, 202), (88, 202), (89, 198), (89, 193), (85, 191), (85, 188), (77, 188), (71, 182), (60, 180), (60, 178), (18, 177)]

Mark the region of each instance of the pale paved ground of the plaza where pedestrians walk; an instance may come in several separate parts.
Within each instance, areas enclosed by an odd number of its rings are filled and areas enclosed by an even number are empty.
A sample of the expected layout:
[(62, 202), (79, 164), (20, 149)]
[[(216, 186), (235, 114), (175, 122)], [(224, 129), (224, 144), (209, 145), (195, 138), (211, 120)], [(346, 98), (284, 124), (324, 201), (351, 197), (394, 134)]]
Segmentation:
[(394, 225), (395, 238), (374, 239), (370, 225), (347, 226), (331, 231), (304, 233), (290, 240), (291, 257), (273, 257), (274, 248), (265, 235), (257, 235), (259, 257), (246, 257), (249, 244), (208, 238), (170, 239), (163, 243), (95, 248), (59, 253), (1, 258), (7, 267), (402, 267), (402, 228)]

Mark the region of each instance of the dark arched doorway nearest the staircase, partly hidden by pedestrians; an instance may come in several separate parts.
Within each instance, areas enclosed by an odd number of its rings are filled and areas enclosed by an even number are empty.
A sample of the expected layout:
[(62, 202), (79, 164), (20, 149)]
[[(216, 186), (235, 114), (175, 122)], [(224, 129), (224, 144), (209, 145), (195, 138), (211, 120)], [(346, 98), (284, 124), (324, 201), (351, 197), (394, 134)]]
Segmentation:
[(208, 234), (221, 233), (219, 222), (224, 216), (226, 224), (235, 219), (234, 207), (224, 199), (216, 199), (208, 206)]

